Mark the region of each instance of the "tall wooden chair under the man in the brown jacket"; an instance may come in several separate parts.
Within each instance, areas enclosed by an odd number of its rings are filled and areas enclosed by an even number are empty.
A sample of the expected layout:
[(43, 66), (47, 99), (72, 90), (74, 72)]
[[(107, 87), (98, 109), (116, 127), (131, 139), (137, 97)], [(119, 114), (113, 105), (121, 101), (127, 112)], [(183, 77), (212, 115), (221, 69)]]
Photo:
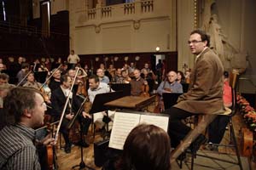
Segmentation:
[[(231, 91), (231, 94), (232, 94), (231, 107), (225, 108), (226, 111), (224, 111), (224, 113), (220, 113), (220, 114), (215, 113), (212, 115), (202, 115), (201, 120), (199, 120), (198, 124), (195, 125), (195, 128), (186, 136), (186, 138), (183, 139), (183, 143), (179, 144), (177, 146), (177, 151), (174, 152), (174, 154), (173, 154), (173, 157), (175, 157), (175, 155), (180, 153), (180, 150), (183, 150), (184, 153), (188, 152), (188, 150), (184, 150), (184, 148), (188, 148), (189, 145), (192, 143), (192, 141), (194, 141), (194, 139), (196, 139), (200, 133), (203, 133), (204, 130), (207, 130), (207, 126), (212, 122), (212, 120), (216, 116), (221, 115), (221, 116), (229, 116), (230, 117), (230, 144), (215, 144), (215, 145), (235, 148), (237, 161), (229, 161), (229, 160), (220, 159), (220, 158), (214, 157), (214, 156), (206, 156), (206, 155), (197, 154), (196, 152), (194, 152), (194, 153), (191, 152), (191, 155), (192, 155), (191, 169), (192, 170), (194, 169), (195, 156), (202, 156), (205, 158), (210, 158), (212, 160), (224, 161), (224, 162), (228, 162), (230, 164), (235, 164), (235, 165), (238, 165), (240, 167), (240, 169), (242, 170), (241, 157), (240, 157), (240, 153), (239, 153), (239, 149), (238, 149), (238, 145), (237, 145), (237, 141), (236, 141), (236, 134), (235, 134), (235, 130), (234, 130), (233, 122), (232, 122), (232, 117), (235, 116), (236, 112), (237, 112), (237, 105), (236, 105), (237, 80), (238, 80), (238, 73), (236, 71), (230, 73), (230, 87), (232, 90)], [(183, 146), (181, 146), (181, 145), (183, 145)], [(184, 156), (183, 156), (183, 158), (184, 158)], [(181, 160), (181, 162), (179, 164), (180, 167), (182, 167), (182, 161), (183, 160)]]

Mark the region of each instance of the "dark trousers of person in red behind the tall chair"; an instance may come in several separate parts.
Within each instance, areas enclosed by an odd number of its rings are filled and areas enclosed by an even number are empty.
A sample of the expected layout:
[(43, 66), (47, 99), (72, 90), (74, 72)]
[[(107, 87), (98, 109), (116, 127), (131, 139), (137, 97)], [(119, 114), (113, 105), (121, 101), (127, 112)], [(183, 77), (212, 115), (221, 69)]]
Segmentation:
[(226, 126), (230, 122), (230, 116), (217, 116), (208, 127), (209, 142), (219, 144), (223, 139)]

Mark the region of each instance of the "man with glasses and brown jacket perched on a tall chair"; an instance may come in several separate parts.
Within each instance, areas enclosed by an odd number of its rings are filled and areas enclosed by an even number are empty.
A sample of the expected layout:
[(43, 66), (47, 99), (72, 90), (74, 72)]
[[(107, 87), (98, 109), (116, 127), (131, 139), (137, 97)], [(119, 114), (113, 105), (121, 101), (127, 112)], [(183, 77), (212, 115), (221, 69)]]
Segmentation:
[[(208, 48), (209, 42), (210, 37), (204, 31), (195, 30), (190, 33), (189, 48), (196, 58), (194, 69), (190, 74), (189, 91), (177, 99), (177, 105), (165, 111), (170, 115), (169, 135), (172, 139), (172, 147), (177, 147), (191, 131), (191, 128), (186, 126), (182, 119), (196, 114), (205, 114), (209, 119), (206, 121), (211, 122), (215, 117), (210, 116), (211, 114), (224, 112), (222, 99), (224, 67), (218, 55)], [(198, 134), (195, 138), (197, 136)], [(206, 142), (206, 138), (202, 134), (194, 142), (193, 140), (191, 139), (189, 142), (192, 142), (190, 144), (192, 151), (198, 150), (200, 145)]]

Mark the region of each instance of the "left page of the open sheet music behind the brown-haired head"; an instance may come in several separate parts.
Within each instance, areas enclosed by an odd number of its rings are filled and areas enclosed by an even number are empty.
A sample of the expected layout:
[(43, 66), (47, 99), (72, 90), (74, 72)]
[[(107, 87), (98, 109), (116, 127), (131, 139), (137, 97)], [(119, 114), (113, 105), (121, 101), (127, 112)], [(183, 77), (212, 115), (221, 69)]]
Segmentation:
[(140, 116), (139, 114), (116, 112), (108, 146), (110, 148), (123, 150), (125, 139), (131, 130), (139, 123)]

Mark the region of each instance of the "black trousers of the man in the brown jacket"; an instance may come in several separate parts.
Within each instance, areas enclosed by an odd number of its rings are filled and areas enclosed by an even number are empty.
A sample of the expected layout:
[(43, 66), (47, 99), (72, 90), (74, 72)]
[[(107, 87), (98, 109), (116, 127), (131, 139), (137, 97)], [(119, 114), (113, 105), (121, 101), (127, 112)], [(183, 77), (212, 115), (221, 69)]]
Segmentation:
[(182, 120), (189, 116), (194, 116), (195, 114), (175, 107), (167, 109), (164, 113), (169, 115), (168, 134), (171, 139), (171, 145), (175, 148), (191, 130), (191, 127), (185, 125)]

